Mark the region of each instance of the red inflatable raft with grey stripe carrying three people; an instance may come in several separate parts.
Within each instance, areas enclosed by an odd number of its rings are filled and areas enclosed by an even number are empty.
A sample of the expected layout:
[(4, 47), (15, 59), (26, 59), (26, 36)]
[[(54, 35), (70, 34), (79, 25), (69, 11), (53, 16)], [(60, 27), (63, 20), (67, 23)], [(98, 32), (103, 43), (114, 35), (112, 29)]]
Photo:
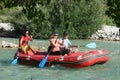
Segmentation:
[[(32, 51), (29, 51), (28, 55), (26, 55), (22, 52), (17, 52), (15, 57), (18, 57), (18, 62), (30, 63), (32, 65), (36, 63), (38, 65), (46, 54), (47, 52), (37, 52), (36, 54), (33, 54)], [(95, 64), (103, 64), (108, 60), (109, 56), (106, 50), (92, 50), (86, 53), (69, 53), (67, 56), (49, 55), (46, 65), (59, 64), (69, 68), (82, 68)]]

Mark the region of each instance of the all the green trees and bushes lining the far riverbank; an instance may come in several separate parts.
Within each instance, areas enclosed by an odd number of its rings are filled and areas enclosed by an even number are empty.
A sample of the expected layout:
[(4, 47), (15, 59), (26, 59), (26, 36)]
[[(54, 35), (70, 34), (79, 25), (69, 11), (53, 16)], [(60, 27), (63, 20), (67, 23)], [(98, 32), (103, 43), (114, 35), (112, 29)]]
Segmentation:
[(1, 0), (0, 22), (14, 24), (17, 37), (29, 30), (34, 38), (48, 39), (53, 31), (62, 35), (66, 30), (72, 39), (87, 39), (101, 25), (115, 25), (114, 18), (107, 15), (112, 0), (108, 1)]

